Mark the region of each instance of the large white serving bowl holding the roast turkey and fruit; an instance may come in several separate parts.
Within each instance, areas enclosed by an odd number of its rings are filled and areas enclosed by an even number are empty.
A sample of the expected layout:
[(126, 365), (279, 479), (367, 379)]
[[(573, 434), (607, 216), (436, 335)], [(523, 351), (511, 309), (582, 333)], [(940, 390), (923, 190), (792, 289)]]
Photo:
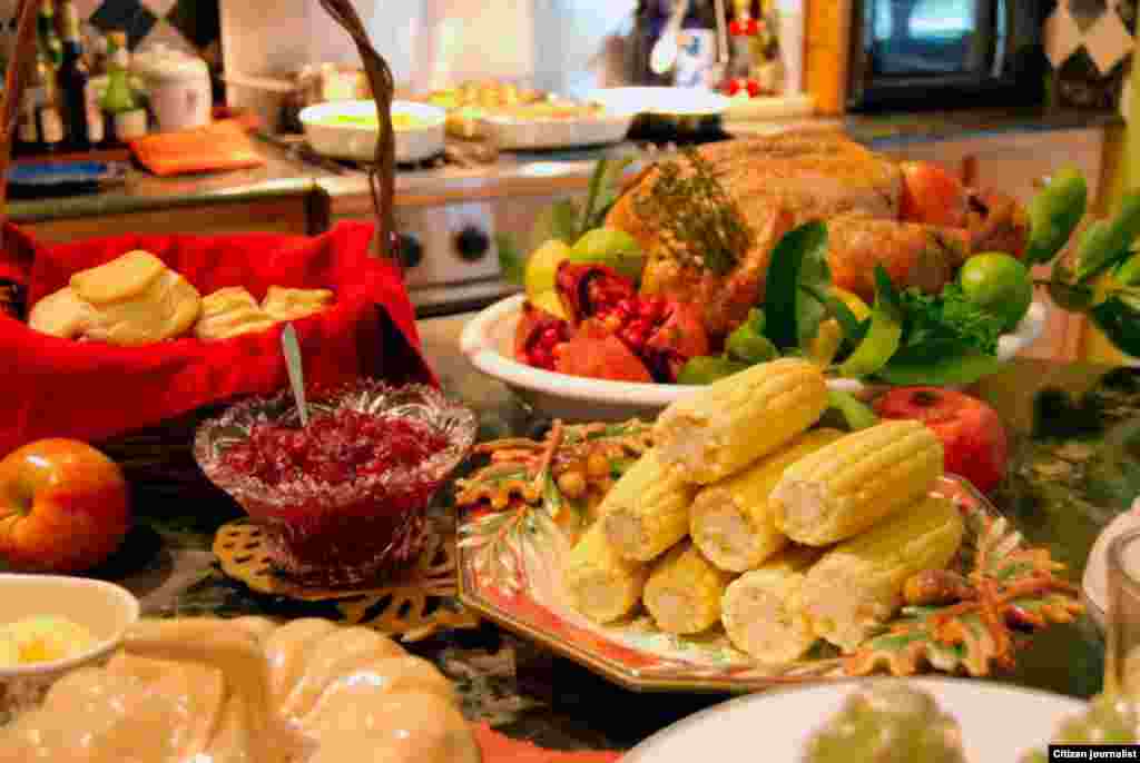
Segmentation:
[[(527, 297), (516, 294), (490, 305), (463, 329), (459, 347), (483, 374), (506, 384), (536, 411), (568, 421), (618, 421), (652, 418), (675, 400), (700, 387), (674, 384), (609, 382), (531, 368), (514, 360), (514, 331)], [(1008, 361), (1041, 336), (1045, 307), (1034, 303), (1017, 331), (1001, 338), (997, 356)], [(858, 393), (855, 379), (831, 379), (833, 389)]]

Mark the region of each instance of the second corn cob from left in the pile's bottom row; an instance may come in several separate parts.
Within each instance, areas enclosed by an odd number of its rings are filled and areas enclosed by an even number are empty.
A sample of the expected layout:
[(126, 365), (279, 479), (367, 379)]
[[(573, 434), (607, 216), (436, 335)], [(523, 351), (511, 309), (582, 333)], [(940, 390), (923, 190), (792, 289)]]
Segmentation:
[(685, 541), (653, 564), (645, 608), (667, 633), (700, 633), (720, 622), (720, 597), (732, 577)]

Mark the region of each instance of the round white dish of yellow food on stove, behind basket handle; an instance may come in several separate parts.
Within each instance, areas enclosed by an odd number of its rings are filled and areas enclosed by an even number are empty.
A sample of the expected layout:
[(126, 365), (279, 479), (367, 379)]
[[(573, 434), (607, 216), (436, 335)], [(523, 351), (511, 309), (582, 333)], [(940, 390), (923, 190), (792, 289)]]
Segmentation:
[[(370, 162), (376, 156), (378, 129), (361, 124), (332, 124), (334, 116), (372, 116), (376, 104), (370, 100), (340, 100), (301, 109), (304, 139), (312, 150), (337, 159)], [(396, 161), (418, 162), (443, 150), (447, 114), (441, 108), (406, 100), (392, 101), (392, 114), (406, 114), (423, 120), (422, 126), (396, 130)]]

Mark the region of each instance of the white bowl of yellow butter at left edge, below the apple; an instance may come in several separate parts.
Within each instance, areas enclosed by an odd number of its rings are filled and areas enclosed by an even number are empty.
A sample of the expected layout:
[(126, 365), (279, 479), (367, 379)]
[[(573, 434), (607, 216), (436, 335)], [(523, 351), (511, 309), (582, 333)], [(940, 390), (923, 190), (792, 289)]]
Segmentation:
[(66, 659), (14, 667), (0, 666), (0, 682), (62, 675), (111, 654), (139, 618), (139, 600), (114, 583), (66, 575), (0, 573), (0, 624), (27, 617), (65, 617), (87, 629), (96, 643)]

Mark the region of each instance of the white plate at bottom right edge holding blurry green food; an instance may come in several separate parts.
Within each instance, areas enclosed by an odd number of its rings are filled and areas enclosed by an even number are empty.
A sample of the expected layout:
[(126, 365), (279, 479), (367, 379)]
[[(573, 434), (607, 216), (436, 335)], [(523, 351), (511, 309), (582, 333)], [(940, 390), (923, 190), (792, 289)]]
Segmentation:
[[(878, 679), (890, 680), (890, 679)], [(1044, 749), (1062, 719), (1085, 704), (1070, 697), (979, 680), (915, 679), (962, 729), (967, 761), (1018, 761)], [(754, 760), (798, 763), (804, 745), (858, 686), (841, 681), (773, 690), (690, 715), (626, 753), (622, 763), (692, 763), (710, 750), (762, 750)], [(733, 757), (733, 756), (730, 756)]]

